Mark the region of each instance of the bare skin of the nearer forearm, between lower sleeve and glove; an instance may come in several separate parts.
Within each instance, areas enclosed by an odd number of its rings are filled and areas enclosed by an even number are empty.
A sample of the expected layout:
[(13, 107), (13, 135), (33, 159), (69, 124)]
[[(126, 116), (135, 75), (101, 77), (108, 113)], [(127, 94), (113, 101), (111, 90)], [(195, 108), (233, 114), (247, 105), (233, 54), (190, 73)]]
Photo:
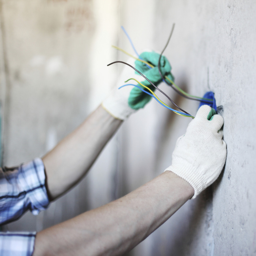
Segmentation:
[(122, 255), (193, 194), (187, 181), (166, 171), (114, 202), (38, 232), (33, 255)]

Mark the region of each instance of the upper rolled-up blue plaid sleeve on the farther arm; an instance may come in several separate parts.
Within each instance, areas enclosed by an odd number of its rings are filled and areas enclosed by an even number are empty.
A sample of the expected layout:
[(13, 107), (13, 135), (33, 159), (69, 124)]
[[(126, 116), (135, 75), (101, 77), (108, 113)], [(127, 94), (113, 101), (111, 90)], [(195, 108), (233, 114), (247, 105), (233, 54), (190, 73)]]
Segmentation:
[(40, 158), (0, 169), (0, 224), (18, 219), (28, 209), (37, 215), (48, 205), (44, 164)]

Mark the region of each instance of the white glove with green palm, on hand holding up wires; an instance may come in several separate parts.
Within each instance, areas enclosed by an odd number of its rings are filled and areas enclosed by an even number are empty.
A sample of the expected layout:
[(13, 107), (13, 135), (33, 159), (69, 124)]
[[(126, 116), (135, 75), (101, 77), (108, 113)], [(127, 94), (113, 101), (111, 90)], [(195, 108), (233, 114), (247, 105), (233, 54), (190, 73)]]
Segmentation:
[[(145, 63), (142, 63), (138, 60), (129, 59), (128, 63), (132, 66), (135, 66), (139, 72), (145, 75), (152, 83), (156, 86), (160, 84), (162, 78), (158, 71), (158, 61), (160, 54), (155, 52), (143, 52), (140, 54), (140, 58), (149, 62), (154, 68), (148, 67)], [(125, 64), (120, 64), (125, 65)], [(171, 74), (171, 65), (166, 57), (162, 56), (160, 60), (160, 70), (163, 76), (167, 75), (172, 81), (174, 80), (173, 75)], [(131, 67), (125, 65), (118, 81), (117, 88), (125, 84), (125, 81), (129, 78), (135, 78), (143, 85), (149, 87), (152, 91), (155, 90), (155, 87), (151, 85), (145, 78), (139, 75), (138, 72), (133, 70)], [(139, 85), (136, 81), (131, 80), (129, 83), (136, 84), (145, 90), (144, 87)], [(143, 108), (151, 99), (151, 96), (139, 90), (137, 87), (125, 86), (123, 88), (117, 89), (112, 92), (112, 94), (102, 102), (103, 108), (109, 112), (113, 117), (125, 120), (136, 110)]]

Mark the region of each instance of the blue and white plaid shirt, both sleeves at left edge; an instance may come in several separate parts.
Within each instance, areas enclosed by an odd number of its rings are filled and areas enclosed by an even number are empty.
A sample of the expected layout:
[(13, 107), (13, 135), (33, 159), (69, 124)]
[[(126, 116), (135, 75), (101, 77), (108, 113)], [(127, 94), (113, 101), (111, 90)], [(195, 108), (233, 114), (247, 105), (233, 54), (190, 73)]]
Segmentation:
[[(36, 158), (13, 168), (0, 168), (0, 224), (18, 219), (28, 209), (34, 215), (49, 205), (44, 164)], [(0, 232), (0, 255), (32, 255), (36, 232)]]

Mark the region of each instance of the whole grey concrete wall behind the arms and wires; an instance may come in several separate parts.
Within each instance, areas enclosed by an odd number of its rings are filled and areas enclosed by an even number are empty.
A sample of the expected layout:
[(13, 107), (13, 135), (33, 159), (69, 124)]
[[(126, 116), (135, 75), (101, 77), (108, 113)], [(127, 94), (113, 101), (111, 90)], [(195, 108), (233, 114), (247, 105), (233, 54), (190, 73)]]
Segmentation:
[[(0, 100), (3, 164), (43, 156), (115, 85), (127, 56), (161, 52), (186, 92), (215, 93), (223, 106), (227, 161), (213, 186), (190, 200), (129, 255), (256, 255), (255, 54), (253, 0), (1, 0)], [(198, 103), (160, 85), (183, 109)], [(250, 114), (250, 115), (249, 115)], [(90, 173), (38, 216), (3, 230), (40, 231), (108, 203), (171, 164), (190, 119), (153, 101), (126, 121)], [(75, 170), (74, 170), (75, 171)]]

